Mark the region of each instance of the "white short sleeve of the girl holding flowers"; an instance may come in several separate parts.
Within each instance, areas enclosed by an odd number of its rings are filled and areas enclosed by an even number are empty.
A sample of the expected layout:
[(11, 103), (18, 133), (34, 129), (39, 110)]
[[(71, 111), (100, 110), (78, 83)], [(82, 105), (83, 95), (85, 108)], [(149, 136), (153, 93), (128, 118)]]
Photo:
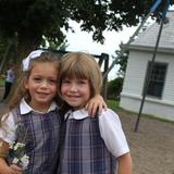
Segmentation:
[(14, 123), (14, 119), (12, 113), (10, 112), (9, 115), (5, 114), (2, 116), (2, 126), (0, 127), (0, 138), (8, 144), (13, 144), (16, 139), (16, 125)]

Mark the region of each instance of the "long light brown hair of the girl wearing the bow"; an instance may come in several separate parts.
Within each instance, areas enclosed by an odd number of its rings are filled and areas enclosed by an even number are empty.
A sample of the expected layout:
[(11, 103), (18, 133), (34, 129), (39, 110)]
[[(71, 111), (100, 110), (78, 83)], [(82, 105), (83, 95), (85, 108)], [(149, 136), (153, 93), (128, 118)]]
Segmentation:
[[(9, 116), (9, 112), (20, 104), (22, 98), (25, 98), (28, 101), (30, 100), (30, 95), (29, 95), (28, 90), (25, 89), (24, 82), (29, 78), (34, 65), (37, 64), (37, 63), (44, 63), (44, 62), (52, 63), (55, 66), (55, 69), (58, 70), (58, 76), (59, 76), (60, 59), (55, 53), (52, 53), (52, 52), (42, 52), (40, 54), (40, 57), (32, 59), (30, 62), (29, 62), (28, 71), (24, 72), (22, 69), (20, 69), (18, 76), (15, 79), (15, 83), (14, 83), (13, 88), (12, 88), (12, 92), (10, 94), (11, 95), (10, 99), (8, 101), (8, 104), (7, 104), (8, 109), (5, 109), (0, 114), (0, 127), (5, 128), (4, 123), (5, 123), (5, 120)], [(60, 99), (58, 92), (57, 92), (57, 96), (54, 97), (53, 100), (58, 104), (61, 103), (61, 101), (62, 101)]]

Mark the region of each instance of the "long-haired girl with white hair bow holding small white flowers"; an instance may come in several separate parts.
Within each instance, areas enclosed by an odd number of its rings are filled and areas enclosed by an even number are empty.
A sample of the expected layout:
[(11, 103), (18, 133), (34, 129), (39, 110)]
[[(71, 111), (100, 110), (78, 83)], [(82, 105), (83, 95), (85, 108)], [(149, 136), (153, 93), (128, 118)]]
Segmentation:
[[(53, 174), (61, 128), (59, 59), (49, 51), (33, 51), (20, 74), (10, 111), (1, 117), (0, 174)], [(102, 102), (94, 101), (94, 108)]]

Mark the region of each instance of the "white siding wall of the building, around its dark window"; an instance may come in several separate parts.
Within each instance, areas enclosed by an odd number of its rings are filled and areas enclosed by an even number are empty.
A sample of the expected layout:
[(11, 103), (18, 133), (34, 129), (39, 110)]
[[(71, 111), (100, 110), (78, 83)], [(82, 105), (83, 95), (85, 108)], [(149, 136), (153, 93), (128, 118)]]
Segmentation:
[[(141, 92), (147, 72), (148, 61), (153, 52), (130, 50), (120, 107), (139, 112)], [(174, 121), (174, 54), (157, 53), (157, 62), (167, 63), (165, 84), (161, 99), (146, 97), (142, 113)]]

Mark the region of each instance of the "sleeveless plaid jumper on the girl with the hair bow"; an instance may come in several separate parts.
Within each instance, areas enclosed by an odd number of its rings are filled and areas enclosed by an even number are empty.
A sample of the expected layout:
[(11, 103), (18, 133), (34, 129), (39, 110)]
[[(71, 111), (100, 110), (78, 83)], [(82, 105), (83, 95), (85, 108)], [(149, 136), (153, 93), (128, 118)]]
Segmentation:
[[(21, 115), (20, 109), (14, 111), (16, 113), (13, 114), (14, 120), (20, 121), (20, 123), (27, 128), (25, 150), (26, 154), (29, 157), (29, 164), (24, 173), (53, 174), (60, 142), (61, 120), (58, 109), (46, 114), (32, 111), (26, 115)], [(20, 136), (21, 135), (17, 135), (16, 137)]]

